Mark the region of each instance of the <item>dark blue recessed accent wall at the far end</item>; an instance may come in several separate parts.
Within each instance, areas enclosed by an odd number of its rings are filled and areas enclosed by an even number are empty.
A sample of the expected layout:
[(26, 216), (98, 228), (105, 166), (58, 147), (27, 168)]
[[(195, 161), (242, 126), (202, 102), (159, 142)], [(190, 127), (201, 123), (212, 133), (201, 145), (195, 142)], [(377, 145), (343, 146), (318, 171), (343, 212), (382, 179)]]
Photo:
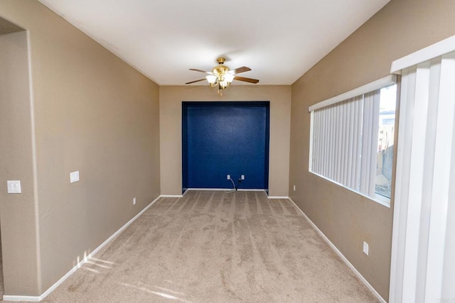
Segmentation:
[(183, 101), (182, 151), (183, 192), (268, 189), (269, 102)]

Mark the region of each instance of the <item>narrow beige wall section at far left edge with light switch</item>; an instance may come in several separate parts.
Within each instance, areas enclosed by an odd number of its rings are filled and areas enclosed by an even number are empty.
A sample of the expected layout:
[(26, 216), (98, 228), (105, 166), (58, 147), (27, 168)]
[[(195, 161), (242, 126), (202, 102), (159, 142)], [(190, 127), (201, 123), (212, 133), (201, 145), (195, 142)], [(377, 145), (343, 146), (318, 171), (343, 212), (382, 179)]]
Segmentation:
[[(38, 290), (37, 209), (26, 32), (0, 35), (0, 53), (0, 223), (1, 241), (5, 243), (4, 287), (12, 293), (21, 293), (26, 287), (25, 294), (35, 294)], [(21, 180), (22, 194), (7, 194), (6, 180)]]

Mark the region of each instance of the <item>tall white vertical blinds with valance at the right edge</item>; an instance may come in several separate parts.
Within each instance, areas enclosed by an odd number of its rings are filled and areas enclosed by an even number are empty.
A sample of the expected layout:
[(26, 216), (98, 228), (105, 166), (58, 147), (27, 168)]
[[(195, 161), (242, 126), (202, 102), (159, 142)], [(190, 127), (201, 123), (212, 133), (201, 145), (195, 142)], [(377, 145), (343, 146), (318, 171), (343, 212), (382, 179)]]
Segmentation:
[(390, 302), (455, 298), (455, 35), (392, 63), (402, 74)]

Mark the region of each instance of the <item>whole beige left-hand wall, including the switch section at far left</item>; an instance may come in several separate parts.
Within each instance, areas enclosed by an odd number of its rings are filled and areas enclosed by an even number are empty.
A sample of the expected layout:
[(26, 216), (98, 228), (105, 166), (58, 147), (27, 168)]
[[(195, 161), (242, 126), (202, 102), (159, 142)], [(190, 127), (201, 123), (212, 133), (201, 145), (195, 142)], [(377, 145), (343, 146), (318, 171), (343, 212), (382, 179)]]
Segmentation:
[(38, 1), (0, 0), (0, 17), (29, 33), (33, 84), (32, 102), (23, 75), (20, 104), (1, 95), (21, 141), (8, 143), (15, 162), (0, 182), (23, 186), (13, 196), (1, 185), (5, 293), (37, 296), (159, 196), (159, 87)]

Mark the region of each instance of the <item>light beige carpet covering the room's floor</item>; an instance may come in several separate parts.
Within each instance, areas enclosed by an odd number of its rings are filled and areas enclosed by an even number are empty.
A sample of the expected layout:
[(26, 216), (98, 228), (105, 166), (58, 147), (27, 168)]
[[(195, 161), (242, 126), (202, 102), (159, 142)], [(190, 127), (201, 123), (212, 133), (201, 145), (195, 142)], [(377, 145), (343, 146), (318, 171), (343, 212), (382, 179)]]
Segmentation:
[(287, 199), (161, 198), (43, 302), (378, 302)]

